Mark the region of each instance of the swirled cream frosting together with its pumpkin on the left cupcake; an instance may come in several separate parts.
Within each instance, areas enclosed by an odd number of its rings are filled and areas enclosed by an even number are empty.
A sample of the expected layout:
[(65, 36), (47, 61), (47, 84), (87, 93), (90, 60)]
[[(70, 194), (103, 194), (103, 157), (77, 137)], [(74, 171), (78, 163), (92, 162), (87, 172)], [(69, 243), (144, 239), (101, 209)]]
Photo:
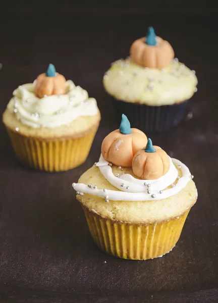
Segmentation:
[(66, 81), (52, 64), (33, 83), (20, 85), (13, 95), (7, 109), (31, 128), (57, 128), (99, 112), (96, 100), (73, 81)]

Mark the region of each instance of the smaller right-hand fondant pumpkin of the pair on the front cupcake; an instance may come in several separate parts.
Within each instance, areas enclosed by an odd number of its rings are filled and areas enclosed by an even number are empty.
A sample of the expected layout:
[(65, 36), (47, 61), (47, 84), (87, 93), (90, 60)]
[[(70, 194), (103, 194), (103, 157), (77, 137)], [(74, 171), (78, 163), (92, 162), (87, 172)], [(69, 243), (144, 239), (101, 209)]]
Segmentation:
[(139, 150), (132, 161), (133, 173), (143, 180), (158, 179), (164, 176), (169, 168), (169, 156), (159, 146), (153, 146), (150, 138), (146, 147)]

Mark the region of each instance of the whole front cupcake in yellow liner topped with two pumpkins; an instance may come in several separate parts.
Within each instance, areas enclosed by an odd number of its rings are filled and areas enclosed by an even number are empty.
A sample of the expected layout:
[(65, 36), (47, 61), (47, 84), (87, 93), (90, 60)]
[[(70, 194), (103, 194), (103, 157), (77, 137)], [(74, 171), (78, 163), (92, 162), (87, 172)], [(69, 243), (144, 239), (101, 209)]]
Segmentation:
[(167, 254), (179, 240), (197, 190), (189, 169), (150, 138), (130, 128), (108, 134), (99, 161), (77, 191), (91, 236), (110, 255), (147, 260)]

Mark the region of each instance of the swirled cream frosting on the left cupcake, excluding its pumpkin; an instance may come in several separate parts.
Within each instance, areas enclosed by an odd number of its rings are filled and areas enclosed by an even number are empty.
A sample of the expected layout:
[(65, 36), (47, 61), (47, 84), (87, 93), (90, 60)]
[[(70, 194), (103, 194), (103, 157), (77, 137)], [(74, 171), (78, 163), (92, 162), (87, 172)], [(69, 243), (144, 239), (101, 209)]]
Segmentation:
[(13, 92), (14, 97), (8, 109), (17, 119), (33, 128), (55, 128), (66, 125), (80, 116), (94, 116), (98, 113), (94, 98), (89, 98), (86, 90), (66, 82), (67, 93), (38, 98), (34, 93), (35, 81), (23, 84)]

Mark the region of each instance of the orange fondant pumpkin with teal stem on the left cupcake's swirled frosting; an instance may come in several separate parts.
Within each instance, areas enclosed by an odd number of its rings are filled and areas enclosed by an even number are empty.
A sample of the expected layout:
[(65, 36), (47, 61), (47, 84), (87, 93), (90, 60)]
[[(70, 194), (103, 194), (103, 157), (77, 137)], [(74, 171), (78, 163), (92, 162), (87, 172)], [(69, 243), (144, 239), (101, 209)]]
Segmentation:
[(35, 94), (42, 98), (45, 95), (64, 94), (66, 92), (66, 79), (63, 75), (56, 73), (55, 66), (49, 64), (47, 72), (40, 74), (36, 79)]

